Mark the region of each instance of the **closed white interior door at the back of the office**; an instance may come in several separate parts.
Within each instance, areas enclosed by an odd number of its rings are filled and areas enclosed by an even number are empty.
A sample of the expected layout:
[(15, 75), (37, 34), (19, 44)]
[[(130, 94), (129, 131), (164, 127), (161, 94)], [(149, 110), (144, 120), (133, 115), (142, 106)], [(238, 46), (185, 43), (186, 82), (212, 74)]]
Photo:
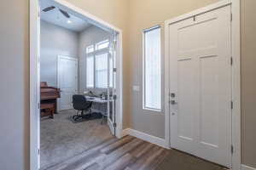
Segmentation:
[(58, 111), (72, 109), (73, 94), (78, 93), (78, 59), (58, 56), (58, 88), (61, 89)]

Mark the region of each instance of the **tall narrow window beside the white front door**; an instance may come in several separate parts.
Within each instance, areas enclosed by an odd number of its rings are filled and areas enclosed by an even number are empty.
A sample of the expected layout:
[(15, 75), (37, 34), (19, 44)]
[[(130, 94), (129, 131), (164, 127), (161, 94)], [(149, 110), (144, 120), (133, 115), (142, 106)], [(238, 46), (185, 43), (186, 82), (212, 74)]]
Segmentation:
[(160, 26), (143, 32), (143, 109), (161, 110)]

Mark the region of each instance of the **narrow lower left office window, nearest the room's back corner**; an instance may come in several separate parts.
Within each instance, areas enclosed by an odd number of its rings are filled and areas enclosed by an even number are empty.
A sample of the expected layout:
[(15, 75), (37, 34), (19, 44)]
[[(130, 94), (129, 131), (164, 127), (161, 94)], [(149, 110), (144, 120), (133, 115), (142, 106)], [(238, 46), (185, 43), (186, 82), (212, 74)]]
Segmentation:
[(94, 57), (90, 55), (86, 58), (86, 87), (94, 88)]

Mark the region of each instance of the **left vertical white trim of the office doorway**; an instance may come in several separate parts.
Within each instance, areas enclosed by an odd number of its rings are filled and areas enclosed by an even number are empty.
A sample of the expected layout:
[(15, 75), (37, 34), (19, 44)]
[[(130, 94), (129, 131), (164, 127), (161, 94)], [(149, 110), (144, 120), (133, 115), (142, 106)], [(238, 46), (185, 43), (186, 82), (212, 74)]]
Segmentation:
[(38, 1), (30, 0), (30, 168), (38, 169), (40, 165), (39, 155), (39, 83), (38, 83), (38, 63), (40, 54), (39, 31), (38, 31)]

